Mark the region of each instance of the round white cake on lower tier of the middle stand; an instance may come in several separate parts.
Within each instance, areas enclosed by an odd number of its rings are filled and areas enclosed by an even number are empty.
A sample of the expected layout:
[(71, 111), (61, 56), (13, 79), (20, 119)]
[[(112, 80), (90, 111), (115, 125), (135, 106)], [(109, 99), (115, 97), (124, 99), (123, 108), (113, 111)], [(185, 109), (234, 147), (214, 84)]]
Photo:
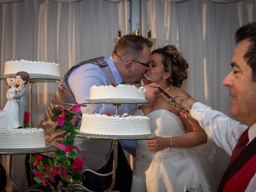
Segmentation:
[(108, 116), (83, 114), (80, 132), (100, 135), (151, 134), (150, 118), (147, 116)]

